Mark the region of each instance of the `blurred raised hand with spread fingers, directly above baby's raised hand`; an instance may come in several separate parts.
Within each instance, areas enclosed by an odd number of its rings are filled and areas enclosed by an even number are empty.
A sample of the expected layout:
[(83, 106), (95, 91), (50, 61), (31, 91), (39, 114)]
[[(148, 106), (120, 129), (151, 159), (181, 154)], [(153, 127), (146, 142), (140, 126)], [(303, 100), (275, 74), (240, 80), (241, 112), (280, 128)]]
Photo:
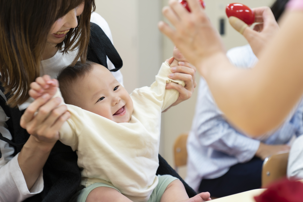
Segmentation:
[(164, 7), (162, 12), (176, 29), (164, 22), (159, 23), (159, 29), (174, 42), (191, 64), (200, 67), (205, 58), (225, 53), (225, 48), (219, 32), (212, 26), (199, 2), (187, 2), (191, 13), (176, 0), (170, 0), (169, 6)]

